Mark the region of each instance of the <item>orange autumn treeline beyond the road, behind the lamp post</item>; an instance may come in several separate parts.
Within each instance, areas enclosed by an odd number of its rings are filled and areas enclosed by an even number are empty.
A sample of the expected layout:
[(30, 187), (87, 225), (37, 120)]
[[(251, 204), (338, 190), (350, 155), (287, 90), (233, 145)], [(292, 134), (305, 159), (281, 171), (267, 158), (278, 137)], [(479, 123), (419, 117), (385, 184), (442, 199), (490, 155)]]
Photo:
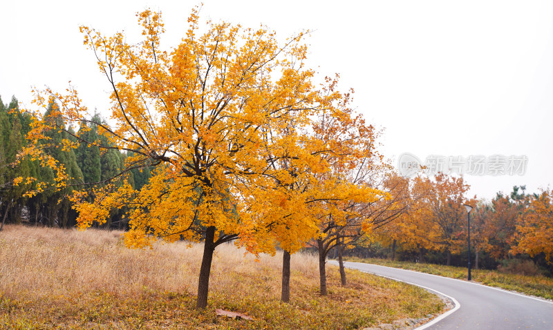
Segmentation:
[[(417, 212), (382, 226), (371, 242), (354, 244), (344, 255), (466, 267), (467, 213), (460, 201), (437, 196), (420, 200)], [(514, 186), (478, 201), (471, 211), (472, 268), (553, 276), (552, 197), (549, 190), (528, 194)]]

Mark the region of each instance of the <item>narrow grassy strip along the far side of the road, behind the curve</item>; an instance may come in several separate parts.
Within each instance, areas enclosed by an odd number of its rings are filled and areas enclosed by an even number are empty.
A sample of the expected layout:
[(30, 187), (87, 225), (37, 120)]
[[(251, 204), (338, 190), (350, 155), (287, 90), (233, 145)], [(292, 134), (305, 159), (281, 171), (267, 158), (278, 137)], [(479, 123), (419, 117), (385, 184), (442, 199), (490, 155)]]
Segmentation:
[[(362, 259), (362, 258), (346, 258), (346, 261), (366, 262), (368, 264), (379, 264), (382, 266), (409, 269), (411, 271), (420, 271), (440, 275), (447, 278), (457, 278), (460, 280), (467, 279), (467, 268), (456, 266), (444, 266), (439, 264), (424, 264), (415, 262), (400, 262), (384, 259)], [(474, 282), (489, 285), (490, 287), (498, 287), (501, 289), (518, 291), (527, 295), (535, 295), (545, 299), (553, 299), (553, 278), (545, 276), (527, 276), (516, 275), (509, 273), (501, 273), (499, 271), (488, 270), (471, 270), (471, 277)]]

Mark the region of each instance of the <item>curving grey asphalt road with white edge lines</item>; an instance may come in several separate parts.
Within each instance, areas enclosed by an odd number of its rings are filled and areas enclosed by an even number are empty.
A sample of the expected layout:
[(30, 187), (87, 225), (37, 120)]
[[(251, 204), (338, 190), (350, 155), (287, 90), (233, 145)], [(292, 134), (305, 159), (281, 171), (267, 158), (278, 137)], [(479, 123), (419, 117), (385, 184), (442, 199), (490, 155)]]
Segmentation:
[[(330, 264), (337, 264), (329, 261)], [(553, 302), (482, 284), (361, 262), (349, 269), (415, 284), (453, 298), (451, 311), (417, 329), (553, 329)]]

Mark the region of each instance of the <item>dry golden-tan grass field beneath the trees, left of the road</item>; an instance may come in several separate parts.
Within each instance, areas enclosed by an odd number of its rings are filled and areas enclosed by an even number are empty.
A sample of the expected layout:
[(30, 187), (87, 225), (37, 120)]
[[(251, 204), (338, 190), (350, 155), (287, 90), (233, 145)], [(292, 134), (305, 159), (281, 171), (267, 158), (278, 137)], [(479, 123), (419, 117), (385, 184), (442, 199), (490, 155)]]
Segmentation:
[[(279, 301), (281, 254), (214, 256), (209, 307), (196, 311), (202, 248), (178, 242), (126, 249), (121, 232), (8, 225), (0, 232), (0, 329), (362, 329), (439, 313), (417, 287), (328, 266), (318, 294), (317, 258), (292, 255), (290, 304)], [(189, 247), (188, 247), (189, 246)], [(216, 316), (215, 309), (254, 318)]]

